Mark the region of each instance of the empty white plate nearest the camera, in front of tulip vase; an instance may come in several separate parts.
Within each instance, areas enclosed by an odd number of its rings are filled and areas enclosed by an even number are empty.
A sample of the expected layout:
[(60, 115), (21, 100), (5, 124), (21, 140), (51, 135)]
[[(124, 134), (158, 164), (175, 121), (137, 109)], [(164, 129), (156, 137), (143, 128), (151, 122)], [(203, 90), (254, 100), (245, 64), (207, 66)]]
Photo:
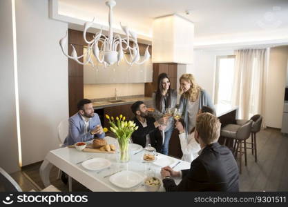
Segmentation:
[(132, 188), (140, 184), (143, 180), (144, 177), (142, 175), (128, 170), (117, 172), (109, 177), (109, 181), (119, 188)]

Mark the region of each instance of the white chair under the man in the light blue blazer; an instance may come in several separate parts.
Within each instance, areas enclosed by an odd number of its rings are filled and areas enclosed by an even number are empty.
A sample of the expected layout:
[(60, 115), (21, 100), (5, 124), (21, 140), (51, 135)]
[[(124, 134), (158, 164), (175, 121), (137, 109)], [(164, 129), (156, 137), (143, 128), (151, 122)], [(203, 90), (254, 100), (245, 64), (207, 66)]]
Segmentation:
[[(69, 119), (63, 119), (58, 125), (58, 140), (59, 147), (61, 148), (69, 132)], [(58, 170), (57, 179), (61, 177), (61, 170)], [(69, 191), (72, 191), (72, 178), (68, 175)]]

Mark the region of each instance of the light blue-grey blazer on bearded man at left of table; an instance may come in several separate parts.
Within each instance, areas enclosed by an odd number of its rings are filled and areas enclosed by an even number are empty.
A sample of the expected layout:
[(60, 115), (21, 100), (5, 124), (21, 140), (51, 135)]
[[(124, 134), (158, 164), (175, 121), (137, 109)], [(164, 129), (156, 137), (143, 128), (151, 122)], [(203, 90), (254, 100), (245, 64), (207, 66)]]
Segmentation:
[[(90, 119), (88, 132), (84, 133), (85, 124), (81, 115), (77, 112), (75, 115), (69, 118), (69, 132), (68, 136), (64, 141), (64, 146), (75, 144), (79, 141), (89, 141), (94, 138), (94, 135), (90, 134), (90, 131), (93, 130), (97, 125), (101, 126), (101, 121), (99, 119), (99, 115), (95, 113), (94, 117)], [(98, 138), (104, 138), (105, 132), (101, 135), (95, 135)]]

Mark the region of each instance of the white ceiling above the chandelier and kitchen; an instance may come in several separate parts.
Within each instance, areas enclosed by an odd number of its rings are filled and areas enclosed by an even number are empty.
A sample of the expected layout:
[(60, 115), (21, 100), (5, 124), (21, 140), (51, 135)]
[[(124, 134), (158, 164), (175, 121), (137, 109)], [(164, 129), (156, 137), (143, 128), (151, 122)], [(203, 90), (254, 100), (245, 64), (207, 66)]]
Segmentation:
[[(288, 0), (116, 0), (114, 24), (128, 25), (151, 37), (156, 17), (180, 14), (195, 23), (195, 39), (263, 32), (288, 31)], [(191, 10), (191, 14), (185, 14)], [(108, 23), (104, 0), (59, 0), (59, 13)], [(279, 33), (279, 32), (278, 32)]]

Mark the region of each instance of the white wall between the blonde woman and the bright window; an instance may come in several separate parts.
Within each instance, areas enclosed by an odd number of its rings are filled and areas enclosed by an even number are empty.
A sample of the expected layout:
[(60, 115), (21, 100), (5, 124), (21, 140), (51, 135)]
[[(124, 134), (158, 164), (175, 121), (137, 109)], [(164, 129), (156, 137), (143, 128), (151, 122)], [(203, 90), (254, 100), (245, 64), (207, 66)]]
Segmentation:
[(218, 55), (233, 55), (233, 50), (195, 50), (194, 63), (187, 66), (197, 83), (206, 90), (214, 100), (215, 68)]

